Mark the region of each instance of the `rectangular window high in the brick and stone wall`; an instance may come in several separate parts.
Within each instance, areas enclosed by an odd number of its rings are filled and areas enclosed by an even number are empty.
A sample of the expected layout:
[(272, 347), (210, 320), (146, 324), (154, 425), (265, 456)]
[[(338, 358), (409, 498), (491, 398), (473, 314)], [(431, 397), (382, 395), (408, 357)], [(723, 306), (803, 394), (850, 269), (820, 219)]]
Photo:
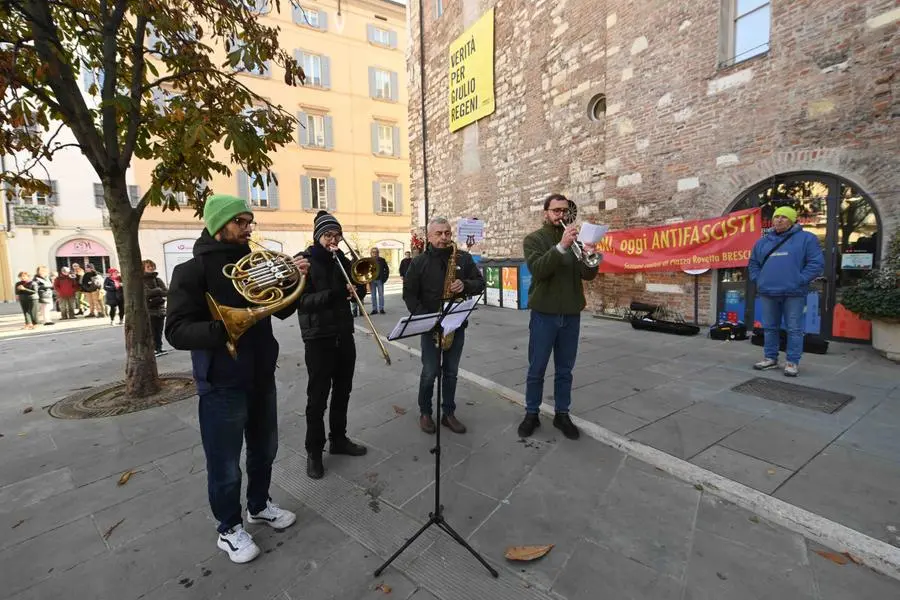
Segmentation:
[(730, 66), (769, 51), (771, 2), (722, 0), (721, 66)]

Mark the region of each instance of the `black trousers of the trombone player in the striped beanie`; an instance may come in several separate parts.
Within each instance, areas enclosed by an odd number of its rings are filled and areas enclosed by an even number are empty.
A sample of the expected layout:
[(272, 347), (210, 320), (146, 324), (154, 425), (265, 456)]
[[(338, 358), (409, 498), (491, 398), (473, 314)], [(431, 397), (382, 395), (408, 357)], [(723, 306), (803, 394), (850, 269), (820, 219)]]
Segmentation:
[[(328, 407), (329, 438), (347, 437), (347, 405), (353, 389), (356, 343), (353, 334), (306, 342), (306, 452), (325, 449), (325, 408)], [(331, 404), (328, 394), (331, 393)]]

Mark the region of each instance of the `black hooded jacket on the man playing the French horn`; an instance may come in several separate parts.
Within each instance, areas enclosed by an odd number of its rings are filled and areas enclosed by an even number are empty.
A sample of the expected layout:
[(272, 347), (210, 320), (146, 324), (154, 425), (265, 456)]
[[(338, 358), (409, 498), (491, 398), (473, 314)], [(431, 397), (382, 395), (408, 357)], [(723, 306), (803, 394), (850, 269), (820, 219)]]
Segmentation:
[[(217, 303), (234, 308), (251, 307), (222, 274), (222, 267), (237, 262), (250, 248), (219, 242), (205, 229), (194, 244), (194, 258), (175, 267), (169, 286), (166, 339), (178, 350), (190, 350), (197, 391), (238, 389), (264, 394), (275, 387), (278, 342), (272, 335), (272, 319), (259, 320), (237, 343), (237, 358), (225, 348), (225, 325), (214, 320), (206, 301), (209, 292)], [(286, 319), (290, 306), (276, 313)]]

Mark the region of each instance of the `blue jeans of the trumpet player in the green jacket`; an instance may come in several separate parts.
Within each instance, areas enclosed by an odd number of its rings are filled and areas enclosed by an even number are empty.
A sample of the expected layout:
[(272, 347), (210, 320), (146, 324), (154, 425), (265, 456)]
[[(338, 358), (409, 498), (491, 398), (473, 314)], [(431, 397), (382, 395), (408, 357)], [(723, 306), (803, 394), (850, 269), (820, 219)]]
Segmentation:
[(544, 373), (553, 353), (553, 401), (556, 412), (567, 413), (572, 404), (572, 368), (578, 354), (581, 315), (551, 315), (531, 311), (528, 325), (528, 379), (525, 385), (525, 410), (541, 411)]

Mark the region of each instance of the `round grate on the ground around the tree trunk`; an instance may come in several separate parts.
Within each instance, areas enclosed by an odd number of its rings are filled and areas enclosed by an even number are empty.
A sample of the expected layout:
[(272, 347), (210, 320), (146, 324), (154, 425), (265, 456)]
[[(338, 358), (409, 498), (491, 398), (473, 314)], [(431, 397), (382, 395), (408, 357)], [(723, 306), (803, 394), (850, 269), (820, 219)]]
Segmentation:
[(160, 375), (159, 380), (159, 392), (146, 398), (126, 398), (124, 381), (79, 391), (51, 406), (50, 416), (57, 419), (115, 417), (186, 400), (197, 393), (190, 374), (169, 373)]

